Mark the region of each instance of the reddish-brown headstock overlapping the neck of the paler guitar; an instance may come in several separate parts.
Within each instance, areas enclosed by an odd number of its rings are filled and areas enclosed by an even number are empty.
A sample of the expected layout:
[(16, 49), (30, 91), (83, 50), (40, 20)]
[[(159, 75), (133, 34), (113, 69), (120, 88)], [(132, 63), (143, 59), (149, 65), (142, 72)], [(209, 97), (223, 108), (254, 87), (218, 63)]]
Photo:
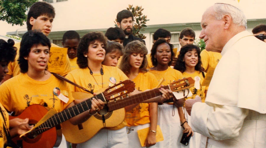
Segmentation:
[(103, 95), (106, 100), (114, 100), (116, 98), (122, 98), (134, 90), (135, 83), (131, 80), (125, 80), (114, 86), (108, 87), (108, 89), (103, 92)]

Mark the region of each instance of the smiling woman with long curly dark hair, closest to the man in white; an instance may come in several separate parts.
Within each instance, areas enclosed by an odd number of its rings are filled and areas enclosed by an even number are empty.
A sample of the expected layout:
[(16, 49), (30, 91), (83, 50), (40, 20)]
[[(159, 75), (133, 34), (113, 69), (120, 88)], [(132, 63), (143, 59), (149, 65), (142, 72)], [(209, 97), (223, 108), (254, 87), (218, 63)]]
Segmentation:
[[(193, 44), (187, 44), (183, 46), (178, 55), (176, 65), (174, 69), (179, 70), (184, 77), (192, 77), (195, 80), (194, 87), (191, 87), (189, 90), (192, 93), (192, 96), (189, 96), (185, 99), (195, 99), (198, 95), (201, 97), (202, 102), (205, 101), (205, 91), (206, 86), (201, 86), (205, 74), (203, 68), (201, 67), (201, 57), (200, 57), (200, 48)], [(185, 118), (191, 126), (190, 116), (185, 110)], [(189, 142), (189, 147), (199, 147), (200, 145), (200, 134), (194, 133), (194, 136), (191, 137)]]

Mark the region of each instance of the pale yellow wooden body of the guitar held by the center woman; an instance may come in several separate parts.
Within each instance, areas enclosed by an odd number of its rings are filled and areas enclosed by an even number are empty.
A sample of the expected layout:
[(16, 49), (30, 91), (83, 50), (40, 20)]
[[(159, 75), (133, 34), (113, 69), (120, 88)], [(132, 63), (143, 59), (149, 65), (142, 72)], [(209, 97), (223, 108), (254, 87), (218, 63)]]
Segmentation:
[[(72, 92), (75, 99), (84, 99), (92, 97), (92, 94), (83, 92)], [(105, 123), (103, 123), (103, 117)], [(74, 126), (69, 120), (62, 123), (62, 132), (67, 141), (70, 143), (82, 143), (91, 139), (102, 128), (115, 127), (121, 124), (125, 118), (125, 109), (114, 110), (107, 112), (107, 109), (103, 109), (96, 115), (91, 116), (87, 121), (82, 124)]]

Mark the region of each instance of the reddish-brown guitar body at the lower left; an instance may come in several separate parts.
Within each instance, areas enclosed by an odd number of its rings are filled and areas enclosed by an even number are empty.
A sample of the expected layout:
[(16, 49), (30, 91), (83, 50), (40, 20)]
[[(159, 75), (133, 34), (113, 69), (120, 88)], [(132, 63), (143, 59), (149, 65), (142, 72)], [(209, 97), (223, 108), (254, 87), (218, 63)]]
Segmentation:
[[(13, 118), (29, 118), (29, 124), (36, 124), (48, 110), (40, 104), (34, 104), (27, 107), (19, 116), (9, 116), (9, 120)], [(57, 144), (61, 143), (62, 133), (59, 130), (57, 133), (56, 127), (53, 127), (39, 135), (29, 135), (19, 137), (16, 136), (12, 138), (12, 141), (18, 146), (23, 148), (52, 148)], [(60, 134), (61, 133), (61, 134)]]

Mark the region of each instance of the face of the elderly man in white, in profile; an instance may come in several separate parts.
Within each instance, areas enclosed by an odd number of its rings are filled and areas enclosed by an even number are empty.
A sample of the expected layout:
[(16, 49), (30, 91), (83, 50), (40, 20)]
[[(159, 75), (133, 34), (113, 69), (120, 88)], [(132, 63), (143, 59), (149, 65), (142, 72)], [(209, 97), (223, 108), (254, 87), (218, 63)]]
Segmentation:
[(214, 17), (213, 8), (207, 9), (202, 15), (200, 38), (205, 41), (207, 51), (215, 51), (216, 49), (222, 49), (221, 40), (223, 40), (223, 27), (224, 22), (222, 20), (216, 20)]

